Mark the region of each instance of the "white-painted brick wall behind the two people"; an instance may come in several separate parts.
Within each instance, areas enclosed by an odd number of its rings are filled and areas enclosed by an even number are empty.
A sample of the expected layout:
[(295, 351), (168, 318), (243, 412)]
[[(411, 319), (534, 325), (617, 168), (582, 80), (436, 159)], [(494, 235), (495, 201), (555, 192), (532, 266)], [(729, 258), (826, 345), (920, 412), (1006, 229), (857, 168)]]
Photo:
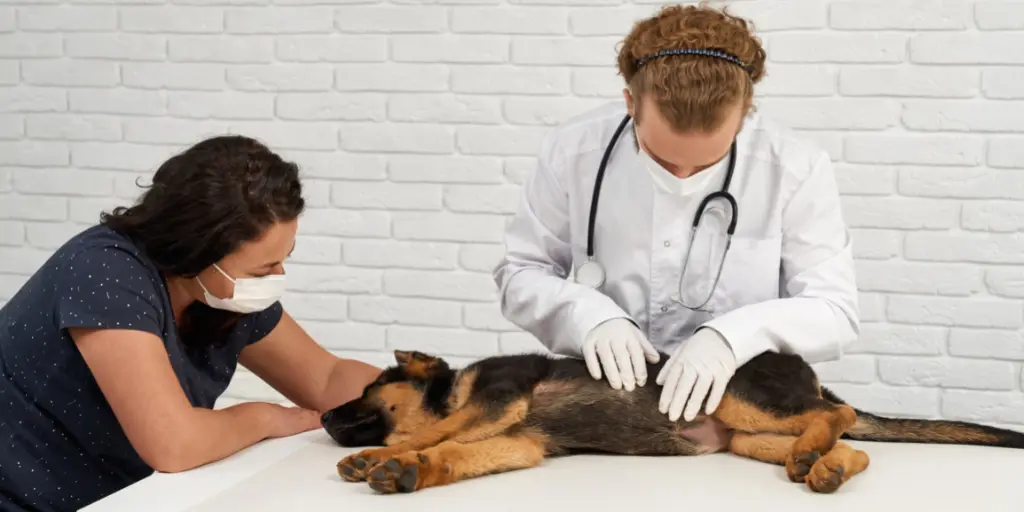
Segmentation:
[[(537, 347), (489, 270), (544, 133), (620, 97), (657, 0), (0, 0), (0, 302), (200, 137), (298, 161), (287, 305), (377, 365)], [(718, 2), (721, 3), (721, 2)], [(737, 0), (761, 110), (837, 162), (867, 410), (1024, 427), (1024, 2)], [(279, 396), (242, 373), (225, 400)]]

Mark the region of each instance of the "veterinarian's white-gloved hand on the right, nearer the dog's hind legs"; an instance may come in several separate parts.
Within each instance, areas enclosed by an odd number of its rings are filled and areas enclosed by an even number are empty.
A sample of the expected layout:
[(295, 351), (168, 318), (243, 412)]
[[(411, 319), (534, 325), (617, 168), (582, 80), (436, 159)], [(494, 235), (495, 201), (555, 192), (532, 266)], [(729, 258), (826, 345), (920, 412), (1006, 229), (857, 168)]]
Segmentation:
[(658, 411), (672, 421), (681, 413), (690, 421), (708, 397), (705, 414), (710, 415), (718, 409), (735, 373), (736, 358), (725, 338), (714, 329), (699, 329), (679, 345), (654, 379), (664, 386)]

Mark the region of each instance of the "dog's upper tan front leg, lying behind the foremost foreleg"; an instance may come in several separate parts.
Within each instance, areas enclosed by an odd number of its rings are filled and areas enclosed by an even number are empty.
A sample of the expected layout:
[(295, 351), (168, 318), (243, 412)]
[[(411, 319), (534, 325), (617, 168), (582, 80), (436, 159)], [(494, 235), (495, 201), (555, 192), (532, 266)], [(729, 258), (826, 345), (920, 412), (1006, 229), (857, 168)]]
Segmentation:
[[(374, 466), (389, 457), (424, 450), (447, 439), (473, 442), (498, 435), (521, 422), (526, 417), (528, 409), (529, 402), (525, 398), (517, 399), (497, 411), (484, 411), (475, 404), (468, 404), (406, 441), (391, 446), (365, 450), (342, 459), (338, 463), (338, 473), (348, 481), (362, 481)], [(490, 417), (497, 414), (500, 416), (492, 420)]]

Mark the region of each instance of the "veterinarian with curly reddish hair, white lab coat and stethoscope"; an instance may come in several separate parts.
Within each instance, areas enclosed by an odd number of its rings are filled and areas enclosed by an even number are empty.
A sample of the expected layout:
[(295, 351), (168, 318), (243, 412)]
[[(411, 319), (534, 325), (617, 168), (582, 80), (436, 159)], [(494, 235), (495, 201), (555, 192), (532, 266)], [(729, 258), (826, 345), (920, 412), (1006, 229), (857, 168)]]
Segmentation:
[(764, 61), (746, 26), (710, 7), (638, 24), (618, 56), (625, 101), (544, 139), (495, 269), (510, 322), (616, 389), (671, 354), (655, 381), (673, 420), (706, 398), (714, 412), (760, 353), (835, 359), (859, 333), (833, 165), (752, 109)]

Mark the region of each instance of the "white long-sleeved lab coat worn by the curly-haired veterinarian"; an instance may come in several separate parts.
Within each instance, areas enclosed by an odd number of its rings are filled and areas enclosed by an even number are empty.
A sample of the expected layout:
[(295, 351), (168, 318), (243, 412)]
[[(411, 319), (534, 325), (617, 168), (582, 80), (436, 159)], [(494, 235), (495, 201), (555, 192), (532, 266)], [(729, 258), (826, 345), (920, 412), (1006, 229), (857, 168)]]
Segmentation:
[[(738, 218), (725, 263), (718, 263), (720, 251), (712, 263), (707, 250), (690, 256), (687, 273), (696, 272), (690, 275), (722, 266), (707, 306), (713, 313), (671, 299), (679, 297), (697, 204), (721, 187), (728, 157), (686, 180), (670, 176), (688, 194), (665, 191), (640, 164), (632, 123), (615, 144), (598, 200), (594, 256), (605, 283), (595, 290), (571, 280), (587, 261), (597, 169), (626, 113), (625, 102), (614, 102), (544, 138), (494, 272), (505, 317), (553, 352), (573, 356), (595, 326), (628, 317), (669, 353), (707, 326), (725, 337), (740, 365), (766, 350), (799, 353), (811, 362), (839, 357), (857, 338), (859, 317), (850, 233), (831, 162), (820, 147), (756, 113), (736, 139), (730, 191)], [(709, 226), (730, 210), (714, 204), (719, 213)], [(718, 232), (723, 237), (724, 223)]]

